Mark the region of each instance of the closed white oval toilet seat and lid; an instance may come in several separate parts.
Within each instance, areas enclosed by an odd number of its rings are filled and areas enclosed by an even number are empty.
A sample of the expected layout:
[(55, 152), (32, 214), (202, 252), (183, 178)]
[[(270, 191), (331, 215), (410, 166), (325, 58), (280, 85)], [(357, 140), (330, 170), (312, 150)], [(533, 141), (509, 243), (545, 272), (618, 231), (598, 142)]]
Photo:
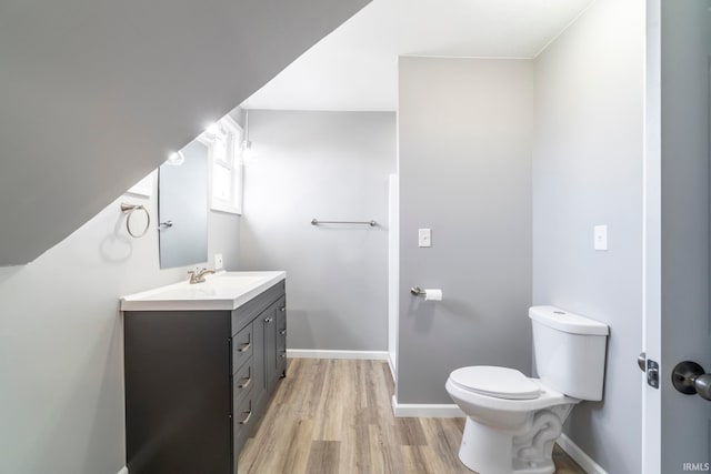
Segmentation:
[(493, 365), (474, 365), (457, 369), (450, 380), (463, 390), (505, 400), (538, 399), (539, 384), (515, 369)]

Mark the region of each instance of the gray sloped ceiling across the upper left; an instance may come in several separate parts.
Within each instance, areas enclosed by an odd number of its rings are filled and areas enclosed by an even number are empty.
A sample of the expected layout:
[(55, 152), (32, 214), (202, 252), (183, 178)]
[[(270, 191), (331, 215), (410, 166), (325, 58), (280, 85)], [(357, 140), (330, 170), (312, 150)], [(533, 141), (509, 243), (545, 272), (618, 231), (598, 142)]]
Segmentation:
[(0, 3), (0, 265), (60, 242), (369, 0)]

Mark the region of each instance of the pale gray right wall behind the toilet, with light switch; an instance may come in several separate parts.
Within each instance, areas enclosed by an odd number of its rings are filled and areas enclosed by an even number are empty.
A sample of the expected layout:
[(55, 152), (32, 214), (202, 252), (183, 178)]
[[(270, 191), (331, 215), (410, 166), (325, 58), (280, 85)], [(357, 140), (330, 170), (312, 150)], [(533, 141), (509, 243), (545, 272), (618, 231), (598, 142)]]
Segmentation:
[(567, 427), (610, 473), (641, 458), (643, 41), (643, 1), (599, 0), (535, 61), (533, 304), (610, 325), (604, 401)]

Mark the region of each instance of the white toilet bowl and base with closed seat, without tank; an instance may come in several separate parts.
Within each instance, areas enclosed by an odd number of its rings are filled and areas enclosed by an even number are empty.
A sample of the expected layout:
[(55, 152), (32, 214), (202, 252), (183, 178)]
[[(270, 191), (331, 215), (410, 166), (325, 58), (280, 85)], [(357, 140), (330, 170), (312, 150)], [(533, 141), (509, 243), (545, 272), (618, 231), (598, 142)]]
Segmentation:
[(467, 467), (482, 474), (554, 472), (553, 444), (580, 400), (513, 369), (485, 365), (455, 370), (445, 387), (467, 414), (459, 450)]

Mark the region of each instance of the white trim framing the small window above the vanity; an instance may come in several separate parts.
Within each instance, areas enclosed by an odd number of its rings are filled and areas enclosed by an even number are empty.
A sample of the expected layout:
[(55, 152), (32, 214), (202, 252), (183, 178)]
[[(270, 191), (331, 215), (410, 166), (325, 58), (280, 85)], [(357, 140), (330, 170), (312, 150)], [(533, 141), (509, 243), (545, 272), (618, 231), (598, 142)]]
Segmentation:
[(202, 133), (198, 137), (198, 140), (203, 143), (209, 151), (209, 179), (210, 179), (210, 210), (227, 212), (230, 214), (242, 215), (242, 175), (243, 175), (243, 163), (242, 157), (240, 153), (240, 148), (242, 145), (243, 140), (243, 131), (242, 128), (237, 123), (230, 115), (226, 115), (219, 120), (220, 124), (227, 129), (232, 137), (234, 138), (233, 143), (228, 143), (228, 152), (232, 153), (232, 168), (231, 168), (231, 200), (222, 200), (214, 196), (213, 193), (213, 175), (214, 175), (214, 167), (221, 165), (216, 164), (214, 160), (214, 140), (207, 132)]

